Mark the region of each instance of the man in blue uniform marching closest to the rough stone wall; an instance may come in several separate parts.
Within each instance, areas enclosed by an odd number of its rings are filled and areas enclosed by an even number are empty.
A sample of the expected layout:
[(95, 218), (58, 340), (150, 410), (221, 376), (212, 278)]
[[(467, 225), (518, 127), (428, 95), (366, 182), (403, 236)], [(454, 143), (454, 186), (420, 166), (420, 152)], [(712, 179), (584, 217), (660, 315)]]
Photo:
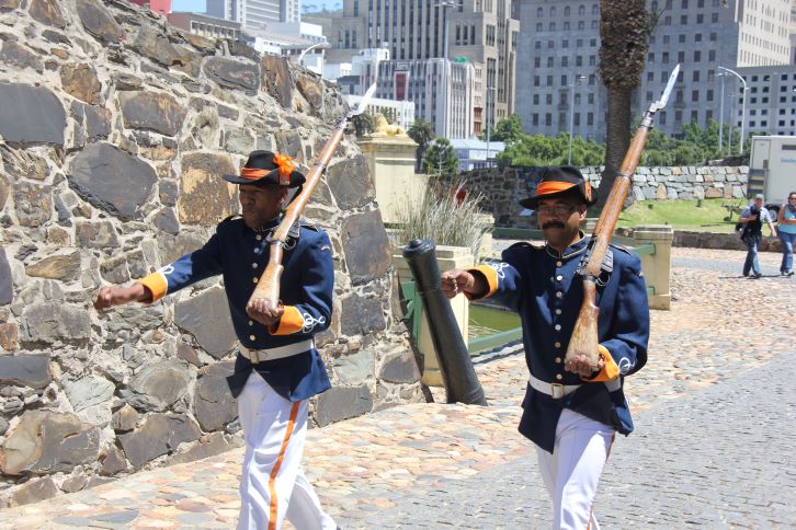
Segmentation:
[(329, 238), (312, 224), (291, 230), (283, 256), (281, 304), (249, 304), (269, 261), (288, 188), (305, 181), (288, 157), (254, 151), (240, 175), (241, 216), (220, 222), (205, 245), (129, 287), (103, 287), (94, 307), (151, 303), (215, 275), (224, 276), (240, 349), (228, 378), (246, 438), (239, 529), (277, 529), (285, 517), (299, 529), (336, 523), (300, 469), (309, 399), (331, 388), (314, 335), (331, 321), (334, 270)]

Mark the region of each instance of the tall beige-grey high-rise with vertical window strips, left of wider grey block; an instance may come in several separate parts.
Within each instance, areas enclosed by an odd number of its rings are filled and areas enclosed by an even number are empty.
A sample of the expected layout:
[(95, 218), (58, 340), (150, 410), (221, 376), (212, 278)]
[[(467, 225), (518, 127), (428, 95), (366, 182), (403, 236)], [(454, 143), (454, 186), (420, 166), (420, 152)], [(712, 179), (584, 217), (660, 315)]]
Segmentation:
[[(494, 88), (490, 120), (514, 112), (514, 62), (519, 20), (512, 0), (344, 0), (343, 16), (334, 20), (331, 45), (337, 60), (346, 62), (360, 48), (387, 48), (395, 61), (410, 61), (414, 71), (452, 71), (442, 62), (417, 67), (418, 61), (457, 57), (478, 68), (480, 80), (470, 87), (474, 102), (482, 105), (486, 91)], [(418, 70), (419, 69), (419, 70)], [(390, 67), (389, 70), (394, 70)], [(408, 70), (411, 76), (412, 69)], [(421, 79), (409, 79), (411, 83)], [(393, 80), (390, 80), (393, 82)], [(448, 82), (444, 77), (441, 82)], [(439, 88), (434, 88), (435, 90)], [(431, 89), (430, 89), (431, 90)], [(433, 92), (433, 90), (432, 90)], [(387, 96), (386, 94), (384, 94)], [(453, 96), (451, 94), (448, 97)], [(421, 116), (422, 102), (414, 101)], [(470, 103), (473, 131), (480, 132), (486, 108)], [(476, 120), (475, 116), (479, 119)], [(477, 125), (476, 125), (477, 124)], [(437, 127), (445, 136), (445, 128)]]

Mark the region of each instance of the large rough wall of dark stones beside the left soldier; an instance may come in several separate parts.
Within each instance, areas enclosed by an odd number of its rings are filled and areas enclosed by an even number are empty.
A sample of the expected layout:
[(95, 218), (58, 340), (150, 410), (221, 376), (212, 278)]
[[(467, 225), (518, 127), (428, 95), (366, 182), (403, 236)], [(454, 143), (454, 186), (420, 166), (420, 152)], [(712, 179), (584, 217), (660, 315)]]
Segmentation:
[[(91, 302), (235, 214), (220, 174), (250, 150), (311, 163), (341, 95), (124, 0), (0, 0), (0, 506), (239, 445), (218, 279), (151, 307)], [(422, 400), (374, 197), (346, 139), (307, 211), (336, 266), (315, 425)]]

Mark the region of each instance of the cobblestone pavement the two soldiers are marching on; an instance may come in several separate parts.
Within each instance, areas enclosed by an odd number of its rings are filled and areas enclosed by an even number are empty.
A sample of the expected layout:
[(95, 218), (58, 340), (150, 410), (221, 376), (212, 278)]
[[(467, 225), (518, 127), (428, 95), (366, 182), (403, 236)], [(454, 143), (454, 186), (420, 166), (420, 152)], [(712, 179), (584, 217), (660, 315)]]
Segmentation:
[[(796, 376), (786, 365), (796, 281), (773, 276), (780, 257), (763, 253), (771, 276), (747, 280), (742, 252), (673, 249), (672, 311), (652, 312), (650, 360), (627, 382), (637, 431), (615, 446), (600, 497), (605, 526), (796, 521), (785, 503), (796, 486), (786, 460), (796, 401), (771, 377)], [(534, 451), (515, 428), (521, 348), (476, 364), (489, 407), (403, 405), (309, 431), (307, 475), (343, 528), (546, 527)], [(0, 510), (0, 527), (230, 528), (241, 454)]]

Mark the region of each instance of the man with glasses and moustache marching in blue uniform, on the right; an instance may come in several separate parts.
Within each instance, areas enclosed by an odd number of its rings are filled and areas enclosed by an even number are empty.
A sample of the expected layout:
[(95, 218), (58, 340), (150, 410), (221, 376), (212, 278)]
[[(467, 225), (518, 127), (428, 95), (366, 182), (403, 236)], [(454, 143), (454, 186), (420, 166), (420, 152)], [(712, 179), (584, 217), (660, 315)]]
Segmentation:
[(583, 296), (577, 269), (589, 238), (579, 226), (593, 201), (577, 169), (549, 168), (535, 195), (521, 200), (536, 209), (546, 244), (518, 243), (501, 261), (442, 275), (448, 298), (490, 297), (521, 316), (530, 375), (520, 433), (536, 445), (555, 529), (598, 528), (592, 502), (614, 433), (633, 430), (623, 381), (647, 360), (649, 306), (640, 261), (611, 245), (598, 281), (599, 369), (592, 371), (584, 355), (565, 361)]

